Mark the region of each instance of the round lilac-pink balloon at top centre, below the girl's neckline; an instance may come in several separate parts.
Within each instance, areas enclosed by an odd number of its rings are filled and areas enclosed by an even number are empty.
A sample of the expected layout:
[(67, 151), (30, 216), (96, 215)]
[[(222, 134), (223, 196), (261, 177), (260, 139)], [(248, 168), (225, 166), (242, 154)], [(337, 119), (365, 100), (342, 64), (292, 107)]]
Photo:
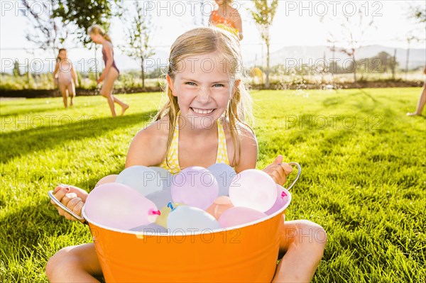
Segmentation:
[(173, 202), (207, 209), (219, 194), (216, 178), (203, 167), (187, 167), (173, 176)]

